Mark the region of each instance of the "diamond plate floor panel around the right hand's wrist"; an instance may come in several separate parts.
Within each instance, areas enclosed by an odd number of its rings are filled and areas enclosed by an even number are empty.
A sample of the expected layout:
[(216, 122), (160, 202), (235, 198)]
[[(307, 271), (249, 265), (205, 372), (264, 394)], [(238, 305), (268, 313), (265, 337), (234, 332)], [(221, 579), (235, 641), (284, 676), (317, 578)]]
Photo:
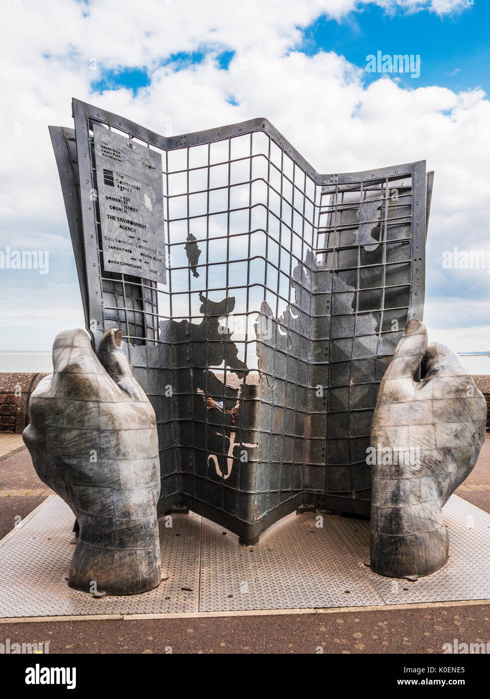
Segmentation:
[[(490, 515), (452, 495), (442, 510), (449, 529), (449, 561), (417, 582), (366, 574), (387, 605), (490, 598)], [(369, 560), (369, 522), (331, 517), (359, 564)]]

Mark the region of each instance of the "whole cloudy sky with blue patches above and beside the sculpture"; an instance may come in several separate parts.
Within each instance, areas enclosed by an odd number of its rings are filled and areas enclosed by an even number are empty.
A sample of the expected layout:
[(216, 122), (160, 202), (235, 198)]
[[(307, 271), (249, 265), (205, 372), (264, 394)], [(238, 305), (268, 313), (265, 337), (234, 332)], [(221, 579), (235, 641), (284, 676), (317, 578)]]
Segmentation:
[[(488, 1), (145, 7), (24, 0), (7, 8), (0, 247), (49, 250), (50, 272), (0, 270), (0, 349), (47, 350), (57, 332), (83, 324), (47, 128), (72, 125), (73, 96), (167, 135), (267, 117), (320, 172), (426, 159), (435, 170), (424, 315), (431, 339), (490, 349), (490, 276), (442, 267), (456, 245), (487, 247)], [(420, 77), (366, 73), (378, 50), (420, 55)]]

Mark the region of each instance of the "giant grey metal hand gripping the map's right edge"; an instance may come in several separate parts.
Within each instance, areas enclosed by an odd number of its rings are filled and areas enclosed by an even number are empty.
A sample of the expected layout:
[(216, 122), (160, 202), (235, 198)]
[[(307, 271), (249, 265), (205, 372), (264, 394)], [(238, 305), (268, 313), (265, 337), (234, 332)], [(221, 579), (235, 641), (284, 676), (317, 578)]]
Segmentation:
[(424, 325), (411, 320), (380, 384), (371, 426), (375, 572), (417, 576), (445, 565), (442, 505), (475, 466), (486, 421), (485, 398), (459, 357), (444, 345), (427, 347)]

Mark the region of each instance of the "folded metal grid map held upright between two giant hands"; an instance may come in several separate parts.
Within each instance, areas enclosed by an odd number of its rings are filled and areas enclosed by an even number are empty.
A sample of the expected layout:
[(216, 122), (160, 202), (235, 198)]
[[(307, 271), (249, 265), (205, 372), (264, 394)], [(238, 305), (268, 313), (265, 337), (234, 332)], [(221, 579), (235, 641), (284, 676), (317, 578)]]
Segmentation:
[[(73, 115), (87, 327), (95, 345), (122, 329), (154, 406), (161, 512), (183, 502), (245, 540), (301, 503), (368, 514), (377, 386), (423, 311), (424, 161), (322, 175), (266, 120), (164, 137)], [(103, 268), (96, 124), (161, 153), (166, 287)]]

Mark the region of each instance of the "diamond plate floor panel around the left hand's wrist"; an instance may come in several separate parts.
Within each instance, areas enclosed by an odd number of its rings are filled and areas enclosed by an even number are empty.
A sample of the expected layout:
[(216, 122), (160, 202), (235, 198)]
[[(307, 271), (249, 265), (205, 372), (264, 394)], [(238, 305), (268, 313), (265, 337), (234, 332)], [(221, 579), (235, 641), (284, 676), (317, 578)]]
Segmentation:
[(162, 575), (169, 575), (168, 580), (140, 595), (101, 599), (72, 590), (66, 582), (73, 556), (73, 521), (68, 505), (55, 497), (1, 547), (0, 617), (198, 610), (201, 517), (197, 514), (174, 514), (172, 528), (159, 519)]

